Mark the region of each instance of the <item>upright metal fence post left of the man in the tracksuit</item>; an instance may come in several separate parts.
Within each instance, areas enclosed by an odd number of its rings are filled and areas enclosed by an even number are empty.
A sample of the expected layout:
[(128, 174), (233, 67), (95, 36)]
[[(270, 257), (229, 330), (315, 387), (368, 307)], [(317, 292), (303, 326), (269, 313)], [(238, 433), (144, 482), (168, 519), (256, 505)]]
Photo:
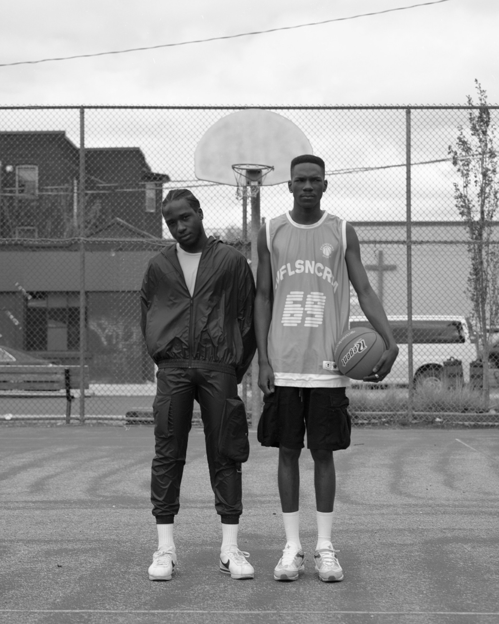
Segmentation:
[(80, 185), (78, 194), (80, 235), (80, 424), (85, 422), (85, 351), (87, 331), (85, 323), (85, 109), (80, 107)]

